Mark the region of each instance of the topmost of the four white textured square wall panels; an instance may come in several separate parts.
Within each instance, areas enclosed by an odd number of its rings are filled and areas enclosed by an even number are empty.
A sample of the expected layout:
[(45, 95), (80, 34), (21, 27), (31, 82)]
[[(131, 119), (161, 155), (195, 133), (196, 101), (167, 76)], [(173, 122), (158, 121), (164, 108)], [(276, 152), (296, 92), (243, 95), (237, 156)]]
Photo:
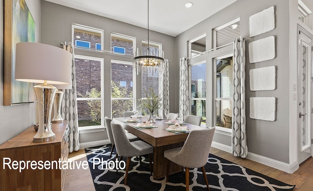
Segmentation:
[(249, 17), (250, 37), (266, 33), (274, 28), (275, 13), (273, 6)]

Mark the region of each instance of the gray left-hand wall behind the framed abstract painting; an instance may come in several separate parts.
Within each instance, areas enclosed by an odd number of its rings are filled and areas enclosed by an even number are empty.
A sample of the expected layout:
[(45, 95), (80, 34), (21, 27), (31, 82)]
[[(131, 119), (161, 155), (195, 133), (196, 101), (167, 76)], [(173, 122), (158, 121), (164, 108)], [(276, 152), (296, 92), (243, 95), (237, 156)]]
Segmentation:
[[(35, 41), (41, 39), (41, 0), (25, 0), (30, 13), (35, 21)], [(0, 144), (18, 135), (23, 130), (31, 127), (36, 121), (35, 104), (22, 104), (3, 106), (3, 21), (4, 0), (0, 1)]]

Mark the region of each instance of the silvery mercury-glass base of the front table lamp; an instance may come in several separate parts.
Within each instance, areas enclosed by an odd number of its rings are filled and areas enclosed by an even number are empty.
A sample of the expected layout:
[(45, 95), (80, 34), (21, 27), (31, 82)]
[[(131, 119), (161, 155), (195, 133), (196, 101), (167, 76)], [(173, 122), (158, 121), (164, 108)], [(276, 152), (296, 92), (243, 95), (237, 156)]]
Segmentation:
[(46, 142), (55, 139), (55, 134), (51, 129), (51, 110), (56, 92), (56, 87), (52, 85), (35, 85), (34, 91), (37, 98), (38, 111), (38, 131), (33, 142)]

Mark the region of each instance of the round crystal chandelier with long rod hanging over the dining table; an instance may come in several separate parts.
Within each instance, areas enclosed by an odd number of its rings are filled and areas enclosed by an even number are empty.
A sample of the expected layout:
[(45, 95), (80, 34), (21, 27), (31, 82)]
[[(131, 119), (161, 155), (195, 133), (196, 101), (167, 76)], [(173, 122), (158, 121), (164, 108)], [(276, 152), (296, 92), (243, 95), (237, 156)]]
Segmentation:
[[(158, 54), (158, 56), (156, 56)], [(137, 51), (134, 52), (134, 60), (133, 65), (134, 69), (137, 71), (137, 75), (139, 72), (139, 69), (142, 68), (142, 66), (146, 67), (155, 67), (155, 70), (157, 67), (160, 67), (164, 64), (164, 52), (161, 52), (161, 50), (157, 51), (151, 51), (149, 46), (149, 0), (148, 0), (148, 47), (146, 50), (141, 51), (139, 53), (139, 50), (137, 48)], [(155, 71), (152, 69), (152, 71)], [(150, 70), (151, 71), (151, 70)]]

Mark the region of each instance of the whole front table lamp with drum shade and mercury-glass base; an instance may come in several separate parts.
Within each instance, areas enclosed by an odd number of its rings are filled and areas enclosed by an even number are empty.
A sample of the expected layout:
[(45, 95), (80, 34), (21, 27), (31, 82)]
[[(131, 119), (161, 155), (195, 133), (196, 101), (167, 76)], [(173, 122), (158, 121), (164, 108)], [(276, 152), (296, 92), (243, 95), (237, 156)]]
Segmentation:
[(62, 48), (34, 42), (16, 44), (15, 80), (37, 83), (39, 127), (33, 142), (55, 139), (51, 129), (51, 110), (56, 87), (71, 84), (72, 54)]

